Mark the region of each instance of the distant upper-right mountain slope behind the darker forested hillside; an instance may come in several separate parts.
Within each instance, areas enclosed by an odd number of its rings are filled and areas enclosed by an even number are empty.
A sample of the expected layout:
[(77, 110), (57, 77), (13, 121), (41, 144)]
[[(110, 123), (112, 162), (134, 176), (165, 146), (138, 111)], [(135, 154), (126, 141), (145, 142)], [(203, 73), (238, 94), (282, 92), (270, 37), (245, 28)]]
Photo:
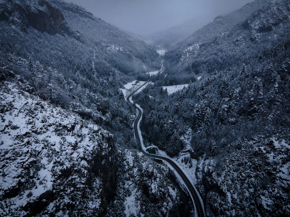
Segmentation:
[[(281, 41), (287, 41), (287, 7), (286, 2), (272, 2), (242, 23), (226, 32), (215, 34), (207, 41), (180, 43), (180, 46), (167, 53), (166, 58), (173, 68), (176, 64), (180, 70), (198, 76), (231, 67), (236, 62), (258, 55), (264, 49), (277, 46)], [(195, 42), (199, 42), (197, 40)]]

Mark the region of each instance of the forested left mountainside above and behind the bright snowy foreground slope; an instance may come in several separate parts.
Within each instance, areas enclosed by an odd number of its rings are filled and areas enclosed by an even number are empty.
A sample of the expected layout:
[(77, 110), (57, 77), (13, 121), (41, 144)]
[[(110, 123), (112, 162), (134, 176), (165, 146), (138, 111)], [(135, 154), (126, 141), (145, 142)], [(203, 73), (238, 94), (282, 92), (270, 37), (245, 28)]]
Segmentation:
[(159, 67), (152, 47), (77, 5), (0, 3), (1, 80), (9, 80), (13, 71), (30, 85), (30, 93), (104, 128), (110, 127), (117, 114), (126, 122), (129, 115), (120, 105), (119, 88)]

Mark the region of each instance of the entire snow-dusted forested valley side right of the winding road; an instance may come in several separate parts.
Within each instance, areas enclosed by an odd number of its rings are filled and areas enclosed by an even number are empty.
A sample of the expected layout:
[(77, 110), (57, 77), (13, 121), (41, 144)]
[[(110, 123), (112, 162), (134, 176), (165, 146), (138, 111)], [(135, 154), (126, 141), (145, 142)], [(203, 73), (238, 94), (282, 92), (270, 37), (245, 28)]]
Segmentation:
[[(202, 41), (199, 30), (166, 54), (168, 74), (135, 99), (143, 136), (188, 156), (208, 216), (289, 216), (290, 3), (228, 27)], [(184, 78), (188, 87), (171, 95), (161, 87)]]

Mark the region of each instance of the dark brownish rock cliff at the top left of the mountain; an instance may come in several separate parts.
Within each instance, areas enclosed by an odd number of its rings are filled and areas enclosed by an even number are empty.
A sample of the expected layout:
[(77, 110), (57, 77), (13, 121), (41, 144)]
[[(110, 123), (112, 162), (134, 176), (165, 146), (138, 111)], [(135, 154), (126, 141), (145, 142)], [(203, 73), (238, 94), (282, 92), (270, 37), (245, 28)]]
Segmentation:
[[(34, 1), (33, 7), (26, 1), (11, 1), (0, 3), (0, 21), (8, 21), (25, 30), (29, 26), (48, 34), (66, 34), (79, 41), (81, 36), (77, 30), (72, 30), (64, 19), (64, 14), (56, 5), (46, 0)], [(17, 14), (17, 16), (15, 16)]]

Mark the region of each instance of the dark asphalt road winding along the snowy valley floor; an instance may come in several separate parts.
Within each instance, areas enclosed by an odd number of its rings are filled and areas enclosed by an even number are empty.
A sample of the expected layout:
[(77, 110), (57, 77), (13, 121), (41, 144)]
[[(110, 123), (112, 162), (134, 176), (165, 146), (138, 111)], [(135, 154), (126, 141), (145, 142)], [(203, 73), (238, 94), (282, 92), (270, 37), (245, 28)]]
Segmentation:
[[(161, 62), (161, 69), (159, 71), (159, 73), (161, 73), (164, 70), (163, 67), (163, 60)], [(134, 90), (131, 94), (129, 94), (125, 100), (129, 103), (132, 104), (133, 106), (135, 106), (135, 104), (133, 102), (130, 101), (131, 96), (138, 91), (140, 88), (142, 88), (144, 85), (146, 85), (150, 80), (146, 81), (144, 84), (142, 84), (139, 88), (137, 88), (136, 90)], [(190, 179), (186, 176), (186, 174), (184, 174), (184, 172), (182, 171), (182, 169), (169, 157), (166, 156), (160, 156), (160, 155), (154, 155), (154, 154), (149, 154), (148, 152), (146, 152), (143, 148), (143, 141), (142, 141), (142, 137), (140, 137), (141, 132), (138, 129), (138, 124), (140, 122), (140, 119), (142, 117), (142, 110), (141, 108), (139, 108), (138, 106), (135, 106), (136, 110), (137, 110), (137, 117), (133, 123), (134, 126), (134, 134), (135, 134), (135, 138), (140, 142), (142, 151), (145, 155), (147, 155), (148, 157), (152, 158), (152, 159), (160, 159), (163, 161), (166, 161), (168, 164), (170, 164), (173, 169), (177, 172), (177, 174), (179, 174), (180, 178), (182, 179), (182, 181), (184, 182), (184, 185), (186, 187), (186, 189), (188, 190), (191, 199), (194, 203), (195, 206), (195, 216), (198, 217), (205, 217), (205, 212), (204, 212), (204, 206), (202, 203), (202, 199), (198, 193), (198, 191), (196, 190), (195, 186), (193, 185), (193, 183), (190, 181)]]

